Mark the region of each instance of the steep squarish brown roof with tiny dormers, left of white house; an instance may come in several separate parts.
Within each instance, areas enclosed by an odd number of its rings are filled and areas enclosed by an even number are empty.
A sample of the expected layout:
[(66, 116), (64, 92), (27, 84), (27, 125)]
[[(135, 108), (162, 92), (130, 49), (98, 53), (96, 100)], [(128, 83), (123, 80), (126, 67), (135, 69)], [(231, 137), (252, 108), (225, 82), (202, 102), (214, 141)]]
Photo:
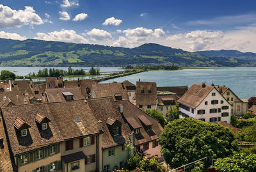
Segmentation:
[(136, 105), (156, 105), (156, 82), (136, 82)]

